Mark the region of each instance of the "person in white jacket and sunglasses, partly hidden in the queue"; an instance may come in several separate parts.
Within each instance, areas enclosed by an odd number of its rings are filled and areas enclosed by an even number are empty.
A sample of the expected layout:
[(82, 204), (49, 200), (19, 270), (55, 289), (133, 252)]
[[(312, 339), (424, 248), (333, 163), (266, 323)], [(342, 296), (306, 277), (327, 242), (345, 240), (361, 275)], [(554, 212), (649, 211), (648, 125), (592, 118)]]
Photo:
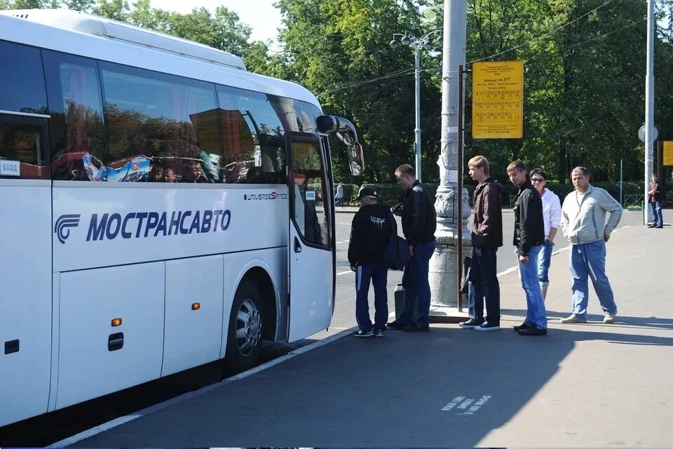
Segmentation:
[(547, 188), (547, 173), (540, 168), (531, 170), (531, 182), (542, 197), (542, 216), (545, 220), (545, 243), (538, 255), (538, 280), (542, 288), (542, 296), (546, 300), (554, 237), (561, 224), (561, 201), (557, 194)]

